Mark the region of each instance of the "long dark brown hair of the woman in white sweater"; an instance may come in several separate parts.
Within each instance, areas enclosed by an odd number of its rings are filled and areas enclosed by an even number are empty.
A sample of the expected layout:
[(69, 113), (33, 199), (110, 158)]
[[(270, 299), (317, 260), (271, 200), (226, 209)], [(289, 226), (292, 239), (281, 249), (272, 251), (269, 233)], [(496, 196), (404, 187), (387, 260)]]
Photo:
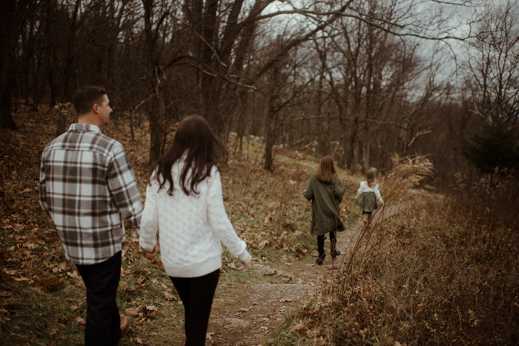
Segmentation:
[[(168, 194), (173, 195), (173, 177), (171, 167), (185, 154), (185, 164), (180, 175), (180, 187), (186, 195), (198, 194), (196, 186), (199, 182), (206, 179), (211, 174), (211, 168), (215, 164), (214, 147), (217, 147), (223, 154), (227, 153), (227, 148), (218, 139), (209, 126), (206, 119), (194, 115), (184, 118), (176, 129), (173, 143), (168, 151), (157, 160), (148, 181), (157, 179), (159, 190), (169, 182)], [(186, 186), (186, 178), (192, 169), (191, 175)]]

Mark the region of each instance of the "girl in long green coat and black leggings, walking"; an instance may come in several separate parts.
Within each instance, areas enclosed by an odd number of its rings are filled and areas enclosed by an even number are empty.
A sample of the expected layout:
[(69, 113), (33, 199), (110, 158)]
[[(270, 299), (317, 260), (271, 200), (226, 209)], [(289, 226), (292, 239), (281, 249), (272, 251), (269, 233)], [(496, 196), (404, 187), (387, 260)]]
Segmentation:
[(335, 249), (337, 230), (342, 232), (344, 224), (339, 217), (339, 204), (343, 201), (344, 191), (340, 187), (337, 169), (333, 163), (333, 158), (326, 155), (321, 158), (317, 172), (310, 175), (308, 188), (303, 191), (303, 195), (312, 202), (312, 222), (310, 224), (310, 234), (317, 236), (317, 251), (319, 257), (316, 263), (321, 265), (324, 257), (324, 235), (330, 234), (330, 253), (332, 258), (340, 255), (340, 251)]

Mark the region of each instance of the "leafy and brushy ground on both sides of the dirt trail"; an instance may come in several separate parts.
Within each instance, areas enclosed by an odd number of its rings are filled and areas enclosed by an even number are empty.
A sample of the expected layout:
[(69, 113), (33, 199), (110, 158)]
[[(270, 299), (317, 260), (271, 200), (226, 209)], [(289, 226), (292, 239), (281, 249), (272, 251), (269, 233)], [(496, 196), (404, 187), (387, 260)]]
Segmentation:
[[(29, 112), (18, 115), (24, 127), (1, 133), (0, 340), (6, 345), (79, 344), (85, 287), (38, 201), (40, 154), (54, 138), (57, 116), (49, 113), (43, 123)], [(128, 126), (108, 125), (103, 133), (124, 145), (144, 200), (146, 124), (136, 129), (135, 140)], [(229, 218), (249, 244), (253, 268), (311, 264), (316, 244), (307, 232), (310, 205), (301, 193), (317, 164), (311, 155), (282, 151), (275, 172), (268, 172), (261, 151), (261, 143), (250, 142), (220, 167)], [(421, 179), (432, 174), (425, 158), (396, 157), (393, 168), (380, 181), (387, 201), (380, 209), (394, 213), (382, 217), (381, 211), (372, 227), (362, 229), (352, 253), (319, 283), (322, 293), (286, 314), (267, 343), (517, 343), (516, 172), (500, 172), (501, 182), (492, 187), (467, 187), (460, 180), (459, 189), (439, 198), (420, 190)], [(339, 176), (346, 192), (342, 215), (350, 227), (360, 217), (352, 201), (359, 178), (343, 170)], [(142, 259), (138, 240), (126, 226), (117, 302), (133, 322), (123, 344), (180, 344), (183, 307), (160, 259)], [(238, 266), (239, 260), (224, 251), (213, 310), (239, 301), (247, 287), (264, 280)]]

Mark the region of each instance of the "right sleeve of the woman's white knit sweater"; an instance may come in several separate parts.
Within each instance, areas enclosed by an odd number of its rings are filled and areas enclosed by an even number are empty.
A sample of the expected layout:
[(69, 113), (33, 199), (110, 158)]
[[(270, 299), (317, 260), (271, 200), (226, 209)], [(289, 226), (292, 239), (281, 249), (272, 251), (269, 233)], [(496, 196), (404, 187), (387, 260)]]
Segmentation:
[(207, 195), (207, 217), (213, 233), (220, 238), (220, 241), (229, 249), (234, 256), (238, 256), (242, 261), (249, 257), (247, 243), (238, 237), (233, 224), (230, 223), (225, 211), (222, 180), (220, 172), (213, 166), (209, 177), (209, 190)]

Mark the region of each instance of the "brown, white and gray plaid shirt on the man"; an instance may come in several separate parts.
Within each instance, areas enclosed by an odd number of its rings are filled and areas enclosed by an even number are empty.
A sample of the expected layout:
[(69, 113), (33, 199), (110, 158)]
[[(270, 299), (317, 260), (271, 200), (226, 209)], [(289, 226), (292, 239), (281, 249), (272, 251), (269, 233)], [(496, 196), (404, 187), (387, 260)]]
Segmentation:
[(45, 147), (39, 201), (72, 263), (100, 263), (124, 248), (122, 217), (139, 237), (143, 206), (130, 162), (95, 125), (72, 124)]

